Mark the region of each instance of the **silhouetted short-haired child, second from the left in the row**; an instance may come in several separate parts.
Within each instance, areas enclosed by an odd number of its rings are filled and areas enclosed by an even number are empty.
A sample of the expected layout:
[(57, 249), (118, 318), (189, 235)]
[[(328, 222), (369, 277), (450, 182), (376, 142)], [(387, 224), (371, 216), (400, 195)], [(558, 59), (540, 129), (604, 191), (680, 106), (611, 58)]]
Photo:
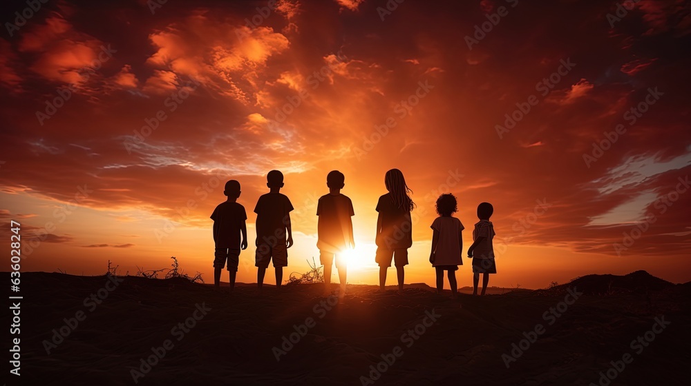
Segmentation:
[(259, 292), (262, 290), (264, 274), (272, 258), (276, 270), (276, 288), (281, 288), (283, 267), (288, 265), (287, 248), (293, 245), (293, 234), (290, 226), (290, 211), (293, 210), (293, 205), (287, 196), (278, 192), (283, 187), (283, 174), (278, 170), (272, 170), (267, 174), (266, 181), (269, 192), (259, 197), (254, 208), (254, 213), (257, 214), (255, 265), (258, 267), (257, 287)]

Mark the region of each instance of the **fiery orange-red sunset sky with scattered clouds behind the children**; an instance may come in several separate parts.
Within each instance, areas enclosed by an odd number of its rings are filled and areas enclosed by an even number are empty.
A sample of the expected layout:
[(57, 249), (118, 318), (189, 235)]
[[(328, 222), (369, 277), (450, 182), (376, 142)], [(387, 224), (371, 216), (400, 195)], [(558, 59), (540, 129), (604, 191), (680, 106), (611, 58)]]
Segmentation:
[[(278, 169), (295, 207), (287, 278), (319, 261), (316, 200), (340, 170), (349, 282), (375, 284), (375, 206), (397, 167), (417, 203), (406, 283), (433, 284), (444, 192), (464, 251), (477, 204), (494, 205), (490, 285), (691, 280), (690, 3), (273, 4), (56, 0), (17, 23), (26, 2), (3, 3), (1, 237), (8, 252), (21, 223), (22, 270), (135, 274), (177, 256), (209, 283), (209, 215), (237, 179), (238, 281), (254, 283), (252, 211)], [(471, 285), (469, 259), (457, 276)]]

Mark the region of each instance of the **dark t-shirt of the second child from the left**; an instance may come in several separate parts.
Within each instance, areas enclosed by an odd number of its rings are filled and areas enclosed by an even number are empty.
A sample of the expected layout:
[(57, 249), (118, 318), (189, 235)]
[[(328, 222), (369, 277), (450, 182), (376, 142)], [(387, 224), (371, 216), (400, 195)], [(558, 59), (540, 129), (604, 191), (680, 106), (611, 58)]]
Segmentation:
[(267, 193), (259, 197), (254, 213), (257, 214), (257, 238), (259, 244), (285, 244), (285, 225), (293, 210), (290, 200), (281, 193)]

